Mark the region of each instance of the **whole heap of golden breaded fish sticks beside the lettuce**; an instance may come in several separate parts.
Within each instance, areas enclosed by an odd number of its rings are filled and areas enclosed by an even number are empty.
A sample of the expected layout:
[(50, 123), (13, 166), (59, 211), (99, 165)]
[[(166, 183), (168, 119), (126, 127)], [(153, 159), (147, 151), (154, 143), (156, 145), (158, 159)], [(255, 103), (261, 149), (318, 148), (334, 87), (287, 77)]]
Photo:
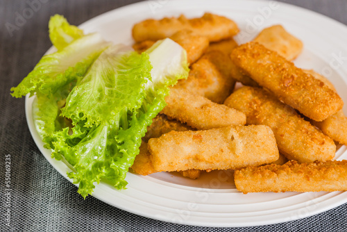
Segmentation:
[(244, 193), (347, 190), (347, 161), (333, 160), (335, 142), (347, 144), (347, 117), (332, 83), (291, 63), (303, 42), (283, 26), (240, 45), (232, 39), (238, 32), (231, 19), (210, 13), (133, 26), (136, 51), (171, 38), (190, 67), (149, 126), (133, 171), (197, 179), (233, 169)]

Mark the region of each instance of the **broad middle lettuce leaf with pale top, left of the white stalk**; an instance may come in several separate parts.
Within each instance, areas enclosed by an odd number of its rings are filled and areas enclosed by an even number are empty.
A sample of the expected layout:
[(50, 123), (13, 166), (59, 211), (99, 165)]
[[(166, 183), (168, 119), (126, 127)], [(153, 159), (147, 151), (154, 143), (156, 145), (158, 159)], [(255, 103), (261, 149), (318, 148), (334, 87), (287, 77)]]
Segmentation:
[(62, 116), (74, 124), (86, 120), (85, 126), (117, 124), (122, 115), (141, 106), (151, 63), (146, 53), (123, 50), (124, 46), (115, 45), (101, 53), (67, 97)]

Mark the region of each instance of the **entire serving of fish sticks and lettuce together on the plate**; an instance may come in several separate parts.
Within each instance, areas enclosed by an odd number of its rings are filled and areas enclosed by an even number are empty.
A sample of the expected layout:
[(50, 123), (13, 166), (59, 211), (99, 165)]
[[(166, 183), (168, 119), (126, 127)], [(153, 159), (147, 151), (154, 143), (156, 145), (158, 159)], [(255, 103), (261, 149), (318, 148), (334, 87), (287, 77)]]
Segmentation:
[(333, 160), (335, 142), (347, 144), (334, 86), (291, 63), (303, 43), (282, 26), (240, 45), (238, 32), (211, 13), (146, 19), (133, 51), (55, 15), (57, 51), (12, 96), (35, 94), (37, 131), (83, 197), (99, 181), (125, 188), (129, 168), (191, 179), (233, 169), (244, 193), (347, 190), (347, 161)]

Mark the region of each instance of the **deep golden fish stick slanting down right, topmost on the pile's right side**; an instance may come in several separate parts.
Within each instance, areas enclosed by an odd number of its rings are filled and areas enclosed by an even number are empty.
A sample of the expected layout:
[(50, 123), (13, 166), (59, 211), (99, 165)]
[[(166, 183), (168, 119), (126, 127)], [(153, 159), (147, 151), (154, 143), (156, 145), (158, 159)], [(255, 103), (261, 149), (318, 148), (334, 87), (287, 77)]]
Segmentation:
[(344, 106), (322, 81), (261, 44), (242, 44), (232, 51), (231, 59), (259, 85), (310, 119), (321, 122)]

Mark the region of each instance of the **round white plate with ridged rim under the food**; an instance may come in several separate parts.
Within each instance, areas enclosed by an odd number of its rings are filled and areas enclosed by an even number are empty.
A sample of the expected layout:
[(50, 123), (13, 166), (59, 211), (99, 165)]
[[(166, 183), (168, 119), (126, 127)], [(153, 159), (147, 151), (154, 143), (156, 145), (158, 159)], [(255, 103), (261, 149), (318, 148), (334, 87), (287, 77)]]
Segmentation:
[[(118, 8), (81, 25), (85, 32), (99, 31), (107, 40), (132, 44), (133, 24), (152, 17), (200, 17), (204, 12), (235, 20), (242, 34), (240, 43), (251, 40), (262, 28), (282, 24), (303, 40), (305, 49), (296, 65), (325, 74), (347, 102), (347, 28), (334, 20), (285, 3), (268, 1), (149, 1)], [(253, 25), (253, 26), (252, 26)], [(341, 60), (336, 57), (342, 56)], [(340, 62), (340, 63), (339, 63)], [(33, 122), (33, 101), (26, 98), (28, 126), (37, 147), (54, 168), (67, 178), (67, 166), (51, 158)], [(344, 112), (347, 113), (345, 106)], [(339, 147), (336, 158), (346, 159), (346, 147)], [(67, 178), (68, 179), (68, 178)], [(69, 180), (71, 181), (71, 180)], [(235, 190), (228, 172), (203, 174), (192, 181), (176, 174), (138, 176), (129, 173), (128, 189), (117, 191), (101, 183), (93, 196), (131, 213), (165, 222), (195, 226), (258, 226), (287, 222), (335, 208), (347, 202), (347, 192), (285, 192), (242, 194)], [(76, 192), (76, 194), (78, 194)]]

